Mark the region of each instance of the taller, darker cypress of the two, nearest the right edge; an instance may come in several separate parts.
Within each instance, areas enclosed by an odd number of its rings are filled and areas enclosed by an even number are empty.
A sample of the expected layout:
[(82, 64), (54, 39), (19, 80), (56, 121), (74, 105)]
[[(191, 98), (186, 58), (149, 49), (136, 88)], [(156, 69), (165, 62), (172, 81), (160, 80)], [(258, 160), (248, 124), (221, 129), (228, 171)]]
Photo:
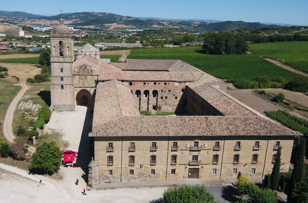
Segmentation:
[(305, 177), (305, 146), (306, 139), (299, 137), (297, 145), (295, 147), (296, 155), (294, 168), (290, 180), (291, 184), (288, 190), (288, 201), (294, 200), (292, 193), (295, 189), (295, 185), (299, 182), (302, 182)]

